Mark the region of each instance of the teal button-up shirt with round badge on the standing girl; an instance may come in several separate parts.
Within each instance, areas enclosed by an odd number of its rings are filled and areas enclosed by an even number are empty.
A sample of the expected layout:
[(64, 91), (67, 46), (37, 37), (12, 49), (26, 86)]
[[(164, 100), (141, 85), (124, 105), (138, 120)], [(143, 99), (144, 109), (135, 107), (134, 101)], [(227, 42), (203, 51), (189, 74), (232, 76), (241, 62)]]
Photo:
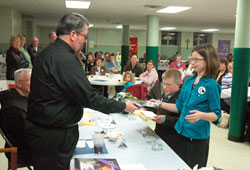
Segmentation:
[(175, 130), (188, 138), (207, 139), (210, 136), (210, 122), (199, 120), (196, 123), (189, 123), (186, 115), (190, 115), (191, 110), (201, 112), (213, 112), (217, 115), (218, 124), (221, 117), (220, 107), (220, 85), (212, 78), (200, 78), (199, 83), (192, 89), (197, 74), (189, 77), (181, 88), (176, 107), (180, 113), (180, 118), (175, 124)]

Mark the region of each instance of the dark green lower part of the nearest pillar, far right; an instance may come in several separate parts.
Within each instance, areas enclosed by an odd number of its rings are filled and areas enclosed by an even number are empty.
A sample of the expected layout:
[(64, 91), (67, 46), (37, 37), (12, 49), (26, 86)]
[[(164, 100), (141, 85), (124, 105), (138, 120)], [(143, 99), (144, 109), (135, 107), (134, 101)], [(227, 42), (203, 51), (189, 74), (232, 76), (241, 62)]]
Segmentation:
[(234, 49), (233, 86), (230, 108), (229, 139), (241, 140), (247, 109), (250, 48)]

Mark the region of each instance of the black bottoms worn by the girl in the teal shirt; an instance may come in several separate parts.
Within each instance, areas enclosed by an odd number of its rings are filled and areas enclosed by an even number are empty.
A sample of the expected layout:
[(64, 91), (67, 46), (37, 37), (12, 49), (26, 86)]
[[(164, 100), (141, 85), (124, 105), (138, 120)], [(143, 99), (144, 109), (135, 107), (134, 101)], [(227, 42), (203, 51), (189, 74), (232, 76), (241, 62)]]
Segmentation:
[(199, 168), (207, 165), (209, 152), (209, 138), (208, 139), (190, 139), (181, 136), (179, 142), (180, 157), (192, 169), (196, 164)]

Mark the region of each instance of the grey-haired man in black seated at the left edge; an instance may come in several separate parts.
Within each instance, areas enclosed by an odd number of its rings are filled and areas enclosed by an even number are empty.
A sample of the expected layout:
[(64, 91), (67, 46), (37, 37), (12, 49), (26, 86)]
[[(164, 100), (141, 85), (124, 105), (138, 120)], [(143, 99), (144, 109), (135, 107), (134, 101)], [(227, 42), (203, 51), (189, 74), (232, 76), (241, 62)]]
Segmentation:
[[(28, 158), (25, 146), (23, 121), (28, 109), (31, 69), (19, 69), (14, 73), (15, 89), (0, 93), (0, 125), (9, 141), (18, 149), (18, 161), (24, 163)], [(5, 148), (9, 147), (5, 144)], [(10, 160), (10, 155), (7, 155)]]

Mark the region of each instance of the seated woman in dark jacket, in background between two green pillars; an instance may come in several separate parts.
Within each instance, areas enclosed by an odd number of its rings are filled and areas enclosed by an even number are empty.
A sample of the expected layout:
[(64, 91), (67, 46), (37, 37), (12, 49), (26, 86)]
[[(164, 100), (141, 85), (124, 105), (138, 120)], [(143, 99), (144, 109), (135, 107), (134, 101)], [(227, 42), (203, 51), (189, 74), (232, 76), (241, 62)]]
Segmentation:
[(124, 67), (123, 71), (131, 71), (135, 74), (135, 77), (139, 77), (141, 73), (143, 73), (143, 68), (141, 64), (138, 62), (138, 57), (134, 53), (130, 57), (129, 63)]

